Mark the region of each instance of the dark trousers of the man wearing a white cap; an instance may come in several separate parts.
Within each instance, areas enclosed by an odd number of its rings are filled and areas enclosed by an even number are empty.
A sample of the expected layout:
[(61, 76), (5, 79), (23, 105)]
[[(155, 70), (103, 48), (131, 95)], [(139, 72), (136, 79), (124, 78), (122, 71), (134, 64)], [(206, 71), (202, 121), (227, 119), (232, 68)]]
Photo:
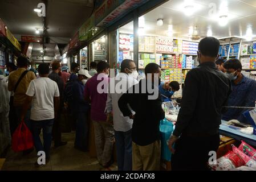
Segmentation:
[(88, 147), (88, 122), (87, 112), (77, 113), (75, 146), (82, 150)]

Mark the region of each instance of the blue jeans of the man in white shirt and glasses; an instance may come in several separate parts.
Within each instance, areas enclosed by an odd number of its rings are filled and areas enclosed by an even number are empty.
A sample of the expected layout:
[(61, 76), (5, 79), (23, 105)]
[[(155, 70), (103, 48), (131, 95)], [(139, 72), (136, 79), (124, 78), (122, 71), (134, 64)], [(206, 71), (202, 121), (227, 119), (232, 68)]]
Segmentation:
[(115, 131), (117, 166), (119, 171), (132, 171), (132, 130)]

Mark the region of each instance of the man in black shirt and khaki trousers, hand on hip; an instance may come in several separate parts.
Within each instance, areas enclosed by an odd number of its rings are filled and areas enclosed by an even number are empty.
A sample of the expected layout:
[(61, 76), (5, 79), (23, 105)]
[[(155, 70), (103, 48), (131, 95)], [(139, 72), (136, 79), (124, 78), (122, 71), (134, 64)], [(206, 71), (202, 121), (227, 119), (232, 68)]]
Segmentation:
[[(132, 125), (132, 169), (159, 170), (160, 168), (160, 120), (164, 119), (159, 94), (161, 69), (156, 63), (145, 67), (145, 74), (151, 73), (139, 84), (120, 97), (118, 105), (124, 117), (133, 118)], [(153, 86), (153, 90), (152, 89)], [(151, 97), (152, 96), (152, 97)], [(155, 97), (155, 98), (154, 98)], [(136, 112), (132, 115), (131, 109)]]

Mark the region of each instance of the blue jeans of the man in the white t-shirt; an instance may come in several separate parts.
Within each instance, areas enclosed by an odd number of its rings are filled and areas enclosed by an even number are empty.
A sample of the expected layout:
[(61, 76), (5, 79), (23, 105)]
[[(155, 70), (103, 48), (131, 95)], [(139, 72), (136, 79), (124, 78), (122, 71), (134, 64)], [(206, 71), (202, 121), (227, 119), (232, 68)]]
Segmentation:
[[(34, 145), (36, 151), (44, 151), (46, 153), (46, 158), (50, 158), (53, 125), (54, 119), (48, 119), (43, 121), (31, 121), (32, 134), (34, 138)], [(43, 144), (39, 137), (41, 129), (43, 129)]]

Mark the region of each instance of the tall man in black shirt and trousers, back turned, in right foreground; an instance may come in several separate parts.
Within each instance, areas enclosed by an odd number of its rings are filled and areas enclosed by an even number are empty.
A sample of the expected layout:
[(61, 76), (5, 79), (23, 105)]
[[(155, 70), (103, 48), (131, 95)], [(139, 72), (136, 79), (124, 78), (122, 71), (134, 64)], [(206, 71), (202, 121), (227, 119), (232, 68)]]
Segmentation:
[(169, 139), (173, 170), (207, 170), (209, 152), (218, 150), (222, 106), (231, 92), (229, 78), (215, 64), (219, 47), (216, 38), (202, 39), (197, 53), (200, 65), (186, 75), (181, 109)]

